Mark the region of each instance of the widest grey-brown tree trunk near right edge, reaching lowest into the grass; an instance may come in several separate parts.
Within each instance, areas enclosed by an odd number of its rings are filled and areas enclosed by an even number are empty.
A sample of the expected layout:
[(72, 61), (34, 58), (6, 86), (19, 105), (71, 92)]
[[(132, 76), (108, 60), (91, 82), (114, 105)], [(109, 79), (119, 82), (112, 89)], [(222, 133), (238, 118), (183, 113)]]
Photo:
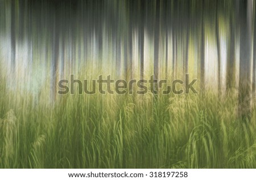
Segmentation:
[(243, 120), (251, 113), (251, 1), (240, 1), (240, 76), (238, 114)]

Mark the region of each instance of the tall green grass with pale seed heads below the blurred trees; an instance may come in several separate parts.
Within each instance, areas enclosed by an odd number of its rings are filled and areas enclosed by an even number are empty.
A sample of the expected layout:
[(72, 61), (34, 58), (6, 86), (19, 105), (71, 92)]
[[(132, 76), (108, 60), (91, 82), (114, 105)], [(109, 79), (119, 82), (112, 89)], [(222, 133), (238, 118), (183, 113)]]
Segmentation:
[(232, 93), (46, 96), (1, 78), (0, 168), (256, 168), (256, 111)]

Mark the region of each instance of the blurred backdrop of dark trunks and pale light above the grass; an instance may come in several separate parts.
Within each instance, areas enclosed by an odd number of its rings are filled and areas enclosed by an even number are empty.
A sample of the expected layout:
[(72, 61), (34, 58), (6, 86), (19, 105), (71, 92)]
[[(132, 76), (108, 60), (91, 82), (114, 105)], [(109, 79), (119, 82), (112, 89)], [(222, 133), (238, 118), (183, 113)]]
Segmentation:
[(2, 0), (0, 7), (9, 82), (38, 91), (51, 79), (50, 98), (58, 80), (89, 66), (126, 79), (191, 74), (201, 89), (239, 90), (243, 105), (255, 94), (254, 1)]

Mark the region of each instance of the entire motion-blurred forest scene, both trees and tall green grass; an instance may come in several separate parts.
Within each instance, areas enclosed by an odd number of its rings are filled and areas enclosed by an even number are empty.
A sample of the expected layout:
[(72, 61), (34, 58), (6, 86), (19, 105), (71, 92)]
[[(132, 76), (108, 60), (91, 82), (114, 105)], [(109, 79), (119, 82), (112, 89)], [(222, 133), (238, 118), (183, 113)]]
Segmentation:
[[(253, 0), (0, 0), (0, 168), (256, 168), (255, 13)], [(109, 75), (195, 91), (58, 93)]]

